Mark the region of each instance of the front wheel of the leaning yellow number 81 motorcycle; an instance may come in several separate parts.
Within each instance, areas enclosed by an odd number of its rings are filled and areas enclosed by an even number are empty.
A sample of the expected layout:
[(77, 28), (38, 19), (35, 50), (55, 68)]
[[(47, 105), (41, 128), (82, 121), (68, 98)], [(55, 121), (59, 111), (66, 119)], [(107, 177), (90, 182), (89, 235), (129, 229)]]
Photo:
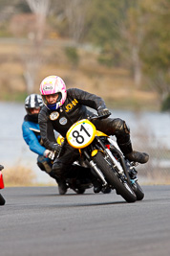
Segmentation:
[(104, 159), (104, 155), (101, 151), (97, 152), (94, 156), (94, 160), (101, 173), (105, 176), (106, 181), (116, 189), (117, 195), (120, 195), (127, 202), (135, 202), (137, 200), (136, 194), (130, 185), (126, 181), (122, 182), (122, 180), (117, 177), (114, 170)]

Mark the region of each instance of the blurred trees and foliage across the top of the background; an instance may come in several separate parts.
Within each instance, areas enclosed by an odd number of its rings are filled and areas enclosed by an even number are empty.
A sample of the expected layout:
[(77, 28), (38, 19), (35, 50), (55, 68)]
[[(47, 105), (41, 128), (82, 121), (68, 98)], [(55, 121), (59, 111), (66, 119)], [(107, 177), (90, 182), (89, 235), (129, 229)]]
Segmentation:
[(49, 62), (47, 40), (63, 39), (72, 67), (80, 63), (77, 49), (88, 47), (99, 64), (130, 72), (137, 88), (169, 101), (169, 0), (0, 0), (0, 10), (0, 37), (28, 42), (21, 57), (28, 93)]

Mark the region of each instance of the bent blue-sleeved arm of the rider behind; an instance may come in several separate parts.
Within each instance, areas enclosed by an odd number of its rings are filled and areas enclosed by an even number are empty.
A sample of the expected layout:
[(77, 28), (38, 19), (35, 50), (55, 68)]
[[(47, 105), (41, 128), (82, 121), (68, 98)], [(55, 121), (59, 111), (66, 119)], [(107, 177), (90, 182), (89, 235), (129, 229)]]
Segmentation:
[(31, 151), (43, 155), (44, 151), (46, 150), (43, 146), (40, 145), (38, 138), (32, 131), (29, 122), (24, 122), (22, 125), (22, 131), (23, 131), (23, 138), (26, 141), (26, 143), (29, 145), (29, 148)]

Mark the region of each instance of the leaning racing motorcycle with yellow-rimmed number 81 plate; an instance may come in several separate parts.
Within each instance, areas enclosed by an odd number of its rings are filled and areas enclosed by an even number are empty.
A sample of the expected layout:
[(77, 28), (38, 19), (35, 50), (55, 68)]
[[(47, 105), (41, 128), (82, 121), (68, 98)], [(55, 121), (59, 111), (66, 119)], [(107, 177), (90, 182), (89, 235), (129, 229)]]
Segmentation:
[(89, 117), (74, 123), (66, 133), (61, 151), (67, 142), (77, 149), (82, 161), (101, 183), (101, 189), (116, 190), (117, 195), (127, 202), (141, 200), (144, 193), (138, 184), (137, 163), (126, 159), (117, 143), (107, 134), (96, 130), (91, 122), (108, 116)]

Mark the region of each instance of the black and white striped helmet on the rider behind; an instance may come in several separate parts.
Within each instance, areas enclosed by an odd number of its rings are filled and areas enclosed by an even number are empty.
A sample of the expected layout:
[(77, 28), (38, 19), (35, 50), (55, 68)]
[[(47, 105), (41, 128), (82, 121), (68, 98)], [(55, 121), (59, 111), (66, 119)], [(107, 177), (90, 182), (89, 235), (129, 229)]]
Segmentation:
[(31, 115), (31, 108), (41, 108), (43, 106), (42, 97), (39, 94), (31, 94), (25, 100), (25, 108), (29, 115)]

